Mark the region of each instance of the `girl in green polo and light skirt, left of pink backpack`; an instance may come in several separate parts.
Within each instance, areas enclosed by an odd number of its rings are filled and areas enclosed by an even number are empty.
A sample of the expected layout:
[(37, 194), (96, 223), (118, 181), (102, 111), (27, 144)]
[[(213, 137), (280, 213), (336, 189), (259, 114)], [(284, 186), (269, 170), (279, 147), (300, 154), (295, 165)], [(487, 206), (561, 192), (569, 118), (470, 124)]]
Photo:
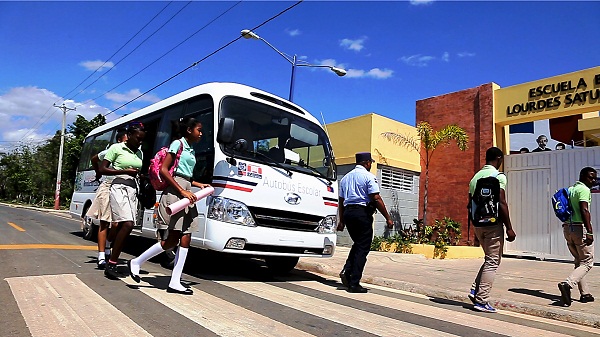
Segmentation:
[(117, 223), (117, 227), (114, 229), (115, 241), (110, 259), (104, 269), (104, 275), (111, 279), (121, 276), (117, 271), (117, 263), (125, 239), (137, 219), (137, 176), (142, 168), (143, 153), (140, 145), (145, 136), (142, 123), (130, 123), (127, 127), (127, 141), (111, 145), (100, 164), (102, 175), (114, 176), (109, 199), (112, 221)]

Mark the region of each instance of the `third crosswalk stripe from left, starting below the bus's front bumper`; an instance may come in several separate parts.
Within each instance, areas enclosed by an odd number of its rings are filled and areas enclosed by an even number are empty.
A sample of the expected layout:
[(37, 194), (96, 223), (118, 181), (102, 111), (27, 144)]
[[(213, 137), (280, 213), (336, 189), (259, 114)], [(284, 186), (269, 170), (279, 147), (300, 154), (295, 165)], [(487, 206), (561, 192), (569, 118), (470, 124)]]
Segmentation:
[(285, 305), (295, 310), (319, 316), (336, 323), (353, 327), (355, 329), (374, 333), (379, 336), (398, 336), (400, 331), (402, 332), (402, 336), (456, 336), (443, 331), (398, 321), (340, 304), (330, 303), (318, 298), (281, 289), (266, 283), (253, 281), (215, 282), (281, 305)]

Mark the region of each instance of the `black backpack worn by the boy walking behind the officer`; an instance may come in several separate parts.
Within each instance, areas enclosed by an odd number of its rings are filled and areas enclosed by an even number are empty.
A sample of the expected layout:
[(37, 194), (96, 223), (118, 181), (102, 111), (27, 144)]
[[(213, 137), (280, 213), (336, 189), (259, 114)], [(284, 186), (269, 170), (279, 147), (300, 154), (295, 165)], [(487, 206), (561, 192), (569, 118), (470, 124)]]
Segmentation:
[(471, 218), (473, 226), (491, 226), (499, 220), (500, 181), (497, 176), (479, 178), (471, 196)]

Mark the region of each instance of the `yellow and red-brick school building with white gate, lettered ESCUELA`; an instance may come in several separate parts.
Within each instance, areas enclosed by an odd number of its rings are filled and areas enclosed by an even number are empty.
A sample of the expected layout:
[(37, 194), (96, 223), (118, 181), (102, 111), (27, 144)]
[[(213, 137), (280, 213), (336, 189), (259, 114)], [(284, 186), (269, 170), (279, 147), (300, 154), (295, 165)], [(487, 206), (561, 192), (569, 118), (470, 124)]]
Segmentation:
[[(508, 177), (507, 199), (517, 232), (517, 240), (507, 243), (506, 249), (542, 258), (569, 258), (560, 222), (550, 208), (550, 197), (556, 189), (573, 184), (584, 166), (600, 171), (598, 111), (600, 66), (505, 88), (491, 82), (417, 101), (416, 123), (426, 121), (434, 130), (455, 124), (469, 136), (466, 151), (452, 144), (436, 150), (432, 158), (430, 172), (435, 174), (429, 177), (428, 222), (450, 217), (462, 224), (461, 244), (472, 242), (474, 233), (466, 211), (468, 184), (484, 165), (485, 151), (497, 146), (506, 154), (501, 170)], [(509, 126), (537, 120), (550, 121), (549, 138), (580, 146), (509, 155)], [(398, 210), (403, 225), (412, 224), (412, 218), (408, 218), (415, 212), (419, 218), (423, 216), (419, 204), (424, 193), (425, 177), (420, 173), (424, 164), (414, 151), (381, 137), (386, 131), (412, 132), (416, 137), (414, 127), (368, 114), (328, 124), (327, 128), (340, 178), (353, 168), (355, 152), (370, 151), (377, 162), (373, 173), (382, 185), (388, 209)], [(396, 176), (401, 178), (394, 180)], [(390, 187), (385, 192), (384, 184)], [(600, 193), (593, 195), (591, 205), (592, 223), (598, 232), (599, 200)], [(383, 225), (383, 218), (376, 220), (375, 235), (384, 232)]]

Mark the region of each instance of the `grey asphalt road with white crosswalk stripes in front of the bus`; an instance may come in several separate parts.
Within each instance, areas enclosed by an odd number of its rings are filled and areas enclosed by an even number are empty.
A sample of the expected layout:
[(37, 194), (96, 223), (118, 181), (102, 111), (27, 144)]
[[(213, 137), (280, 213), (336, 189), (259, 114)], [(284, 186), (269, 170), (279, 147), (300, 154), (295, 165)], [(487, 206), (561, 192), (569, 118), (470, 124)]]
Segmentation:
[[(130, 237), (123, 259), (152, 245)], [(597, 329), (370, 286), (349, 294), (336, 279), (295, 270), (273, 276), (256, 259), (192, 249), (184, 283), (168, 294), (161, 256), (142, 282), (109, 280), (79, 222), (0, 205), (0, 336), (590, 336)], [(125, 273), (125, 261), (120, 270)]]

